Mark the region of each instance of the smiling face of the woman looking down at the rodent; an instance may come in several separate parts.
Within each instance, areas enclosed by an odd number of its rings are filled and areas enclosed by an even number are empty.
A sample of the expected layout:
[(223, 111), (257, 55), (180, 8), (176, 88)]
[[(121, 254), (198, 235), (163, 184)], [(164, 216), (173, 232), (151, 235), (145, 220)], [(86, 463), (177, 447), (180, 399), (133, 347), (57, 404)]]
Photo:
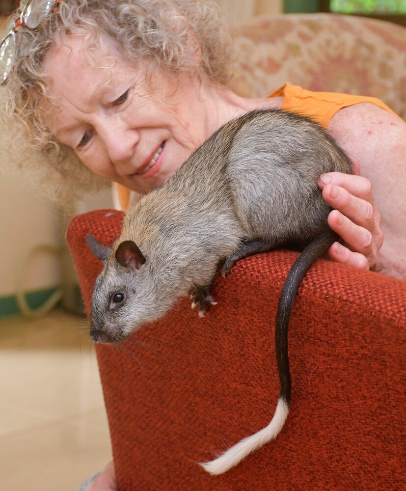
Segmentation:
[(66, 37), (45, 59), (45, 122), (94, 173), (137, 192), (162, 186), (210, 134), (198, 81), (149, 78), (145, 61), (130, 66), (107, 36), (89, 59), (83, 39)]

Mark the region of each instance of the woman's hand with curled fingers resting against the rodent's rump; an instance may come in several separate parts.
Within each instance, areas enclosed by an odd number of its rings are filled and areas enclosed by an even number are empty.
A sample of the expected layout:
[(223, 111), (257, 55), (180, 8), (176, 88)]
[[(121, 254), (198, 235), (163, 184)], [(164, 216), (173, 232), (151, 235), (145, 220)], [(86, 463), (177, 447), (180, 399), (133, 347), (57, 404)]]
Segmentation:
[(354, 170), (357, 175), (328, 172), (318, 181), (324, 199), (334, 208), (328, 224), (345, 242), (335, 242), (328, 254), (339, 263), (369, 270), (382, 246), (383, 234), (371, 183), (359, 175), (357, 162)]

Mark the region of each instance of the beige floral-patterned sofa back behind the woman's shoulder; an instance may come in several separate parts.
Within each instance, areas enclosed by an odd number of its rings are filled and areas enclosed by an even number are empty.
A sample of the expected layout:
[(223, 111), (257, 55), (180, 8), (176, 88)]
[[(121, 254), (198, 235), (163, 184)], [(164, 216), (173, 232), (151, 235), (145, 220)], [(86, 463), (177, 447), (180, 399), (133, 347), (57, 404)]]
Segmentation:
[(254, 17), (233, 29), (235, 89), (263, 97), (290, 82), (378, 97), (406, 119), (406, 29), (334, 14)]

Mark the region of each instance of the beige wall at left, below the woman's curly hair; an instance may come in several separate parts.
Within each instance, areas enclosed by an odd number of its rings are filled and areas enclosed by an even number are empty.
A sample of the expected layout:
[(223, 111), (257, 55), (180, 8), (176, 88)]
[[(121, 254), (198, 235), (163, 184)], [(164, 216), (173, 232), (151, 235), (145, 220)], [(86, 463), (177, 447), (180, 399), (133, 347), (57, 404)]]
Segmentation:
[[(46, 289), (61, 283), (59, 256), (46, 251), (33, 255), (32, 251), (43, 245), (66, 246), (68, 222), (65, 214), (35, 186), (30, 186), (20, 171), (4, 171), (10, 166), (4, 151), (7, 144), (4, 136), (0, 125), (0, 298), (17, 292), (17, 278), (28, 255), (31, 259), (24, 269), (24, 291)], [(112, 207), (111, 192), (103, 189), (88, 196), (85, 202), (77, 202), (75, 214)]]

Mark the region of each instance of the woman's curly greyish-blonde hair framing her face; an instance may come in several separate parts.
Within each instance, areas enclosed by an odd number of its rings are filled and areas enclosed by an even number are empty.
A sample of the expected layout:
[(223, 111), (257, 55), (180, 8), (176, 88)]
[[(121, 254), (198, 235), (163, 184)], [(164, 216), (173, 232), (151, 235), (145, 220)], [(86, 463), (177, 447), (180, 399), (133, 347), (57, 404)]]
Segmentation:
[[(24, 8), (26, 1), (21, 3)], [(62, 37), (83, 31), (107, 33), (124, 59), (131, 63), (141, 57), (151, 69), (160, 66), (174, 74), (197, 70), (221, 84), (229, 82), (231, 73), (231, 39), (217, 4), (210, 0), (64, 0), (39, 30), (21, 29), (15, 69), (1, 95), (19, 149), (13, 160), (18, 155), (20, 168), (58, 200), (102, 182), (38, 116), (41, 100), (49, 96), (45, 56)], [(38, 158), (33, 159), (35, 153)]]

